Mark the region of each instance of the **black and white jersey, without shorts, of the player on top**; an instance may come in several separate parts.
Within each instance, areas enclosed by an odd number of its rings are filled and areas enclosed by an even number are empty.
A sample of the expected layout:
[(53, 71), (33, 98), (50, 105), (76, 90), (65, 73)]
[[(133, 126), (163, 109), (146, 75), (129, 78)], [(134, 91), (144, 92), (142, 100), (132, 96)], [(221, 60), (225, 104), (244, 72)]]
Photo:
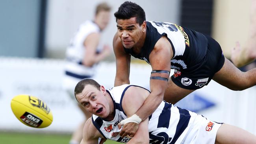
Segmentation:
[(150, 53), (156, 42), (165, 35), (173, 48), (173, 57), (170, 59), (172, 69), (189, 72), (198, 67), (206, 55), (208, 46), (208, 39), (202, 33), (170, 22), (147, 21), (146, 23), (146, 38), (141, 52), (134, 54), (132, 49), (124, 48), (126, 53), (150, 64)]

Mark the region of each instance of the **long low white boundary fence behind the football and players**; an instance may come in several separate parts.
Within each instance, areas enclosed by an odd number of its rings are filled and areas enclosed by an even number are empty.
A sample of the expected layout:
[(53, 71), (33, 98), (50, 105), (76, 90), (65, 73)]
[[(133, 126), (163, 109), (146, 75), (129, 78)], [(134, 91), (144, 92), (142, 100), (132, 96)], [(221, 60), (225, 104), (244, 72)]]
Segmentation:
[[(78, 126), (83, 115), (62, 88), (64, 65), (62, 60), (0, 57), (0, 131), (70, 133)], [(149, 89), (150, 72), (149, 65), (132, 64), (131, 84)], [(96, 81), (110, 89), (114, 78), (114, 62), (98, 65)], [(45, 101), (54, 116), (52, 124), (43, 129), (35, 129), (19, 122), (10, 107), (11, 99), (18, 94), (30, 94)], [(211, 81), (194, 94), (215, 103), (213, 107), (198, 111), (199, 114), (216, 122), (241, 127), (256, 135), (256, 87), (232, 91)], [(189, 101), (193, 104), (191, 99)], [(194, 106), (197, 107), (197, 103)]]

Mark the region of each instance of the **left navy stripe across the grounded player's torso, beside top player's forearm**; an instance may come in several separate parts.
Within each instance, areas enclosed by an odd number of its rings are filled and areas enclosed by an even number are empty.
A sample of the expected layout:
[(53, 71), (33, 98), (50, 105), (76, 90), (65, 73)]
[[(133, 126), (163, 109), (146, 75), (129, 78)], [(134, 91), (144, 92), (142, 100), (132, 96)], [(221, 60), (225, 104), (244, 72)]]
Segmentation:
[(166, 127), (168, 129), (169, 123), (170, 123), (169, 120), (171, 117), (171, 107), (172, 107), (172, 105), (170, 103), (165, 103), (162, 113), (160, 114), (160, 116), (158, 118), (157, 127)]

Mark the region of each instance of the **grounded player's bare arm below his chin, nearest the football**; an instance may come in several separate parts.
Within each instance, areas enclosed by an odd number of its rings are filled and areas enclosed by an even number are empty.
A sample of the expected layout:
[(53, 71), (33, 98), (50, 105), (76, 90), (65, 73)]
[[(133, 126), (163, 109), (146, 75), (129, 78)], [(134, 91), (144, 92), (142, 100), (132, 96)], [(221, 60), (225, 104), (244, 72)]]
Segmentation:
[(83, 139), (80, 144), (98, 144), (98, 138), (103, 138), (89, 118), (83, 127)]

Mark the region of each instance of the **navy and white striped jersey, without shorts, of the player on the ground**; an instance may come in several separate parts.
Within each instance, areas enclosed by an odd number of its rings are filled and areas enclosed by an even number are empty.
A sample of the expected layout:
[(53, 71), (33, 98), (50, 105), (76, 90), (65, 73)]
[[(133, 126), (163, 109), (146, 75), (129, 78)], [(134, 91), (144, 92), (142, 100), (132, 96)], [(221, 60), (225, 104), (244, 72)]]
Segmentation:
[[(127, 137), (120, 137), (119, 132), (121, 129), (118, 129), (117, 124), (127, 118), (122, 109), (122, 98), (124, 92), (131, 86), (134, 85), (121, 85), (107, 90), (111, 95), (115, 109), (115, 118), (112, 121), (107, 122), (96, 115), (92, 116), (94, 126), (106, 139), (124, 143), (130, 140)], [(199, 124), (194, 124), (195, 119), (198, 119), (198, 117), (203, 118), (186, 109), (174, 107), (164, 101), (161, 102), (156, 111), (149, 117), (150, 144), (180, 144), (186, 141), (186, 137), (194, 137), (196, 133), (193, 133), (192, 136), (189, 131), (191, 131), (192, 127), (195, 129), (195, 125)], [(215, 136), (213, 135), (213, 137)]]

